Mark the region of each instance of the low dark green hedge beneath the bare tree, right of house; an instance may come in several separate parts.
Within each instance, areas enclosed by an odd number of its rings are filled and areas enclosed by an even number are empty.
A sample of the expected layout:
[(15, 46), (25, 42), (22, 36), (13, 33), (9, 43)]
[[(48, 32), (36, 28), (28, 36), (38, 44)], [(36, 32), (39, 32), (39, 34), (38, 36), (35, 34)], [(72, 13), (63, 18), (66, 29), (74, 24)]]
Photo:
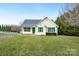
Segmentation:
[(79, 26), (59, 27), (58, 34), (70, 35), (70, 36), (79, 36)]

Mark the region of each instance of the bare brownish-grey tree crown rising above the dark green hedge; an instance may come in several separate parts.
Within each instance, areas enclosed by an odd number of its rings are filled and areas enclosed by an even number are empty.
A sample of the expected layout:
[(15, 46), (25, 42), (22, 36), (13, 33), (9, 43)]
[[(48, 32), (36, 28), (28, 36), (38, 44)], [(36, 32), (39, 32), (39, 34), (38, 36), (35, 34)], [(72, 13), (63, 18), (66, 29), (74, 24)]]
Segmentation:
[(79, 26), (79, 4), (65, 4), (59, 13), (60, 15), (63, 13), (65, 22), (68, 22), (72, 26)]

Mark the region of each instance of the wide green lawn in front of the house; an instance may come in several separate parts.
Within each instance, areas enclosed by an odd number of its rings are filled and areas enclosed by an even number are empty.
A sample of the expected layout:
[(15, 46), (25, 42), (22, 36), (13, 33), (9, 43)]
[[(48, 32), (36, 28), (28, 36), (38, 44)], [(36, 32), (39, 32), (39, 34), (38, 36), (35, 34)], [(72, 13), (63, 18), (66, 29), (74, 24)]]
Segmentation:
[(0, 38), (0, 55), (79, 56), (79, 37), (18, 35)]

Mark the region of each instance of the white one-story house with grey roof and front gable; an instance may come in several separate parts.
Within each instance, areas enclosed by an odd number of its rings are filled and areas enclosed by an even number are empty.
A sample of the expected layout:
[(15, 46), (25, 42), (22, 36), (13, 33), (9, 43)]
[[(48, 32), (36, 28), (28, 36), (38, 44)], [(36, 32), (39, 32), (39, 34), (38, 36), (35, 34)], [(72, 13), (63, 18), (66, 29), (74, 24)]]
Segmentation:
[(58, 26), (52, 19), (26, 19), (21, 25), (22, 34), (46, 35), (58, 34)]

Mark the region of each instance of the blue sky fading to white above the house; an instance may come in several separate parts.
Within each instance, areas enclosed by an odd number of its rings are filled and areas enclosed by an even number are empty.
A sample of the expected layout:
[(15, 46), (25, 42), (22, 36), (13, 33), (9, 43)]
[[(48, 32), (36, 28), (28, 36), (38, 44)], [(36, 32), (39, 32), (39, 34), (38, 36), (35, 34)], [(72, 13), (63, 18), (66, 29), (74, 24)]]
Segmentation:
[(62, 3), (6, 3), (0, 4), (0, 24), (18, 25), (24, 19), (43, 19), (49, 17), (56, 20)]

